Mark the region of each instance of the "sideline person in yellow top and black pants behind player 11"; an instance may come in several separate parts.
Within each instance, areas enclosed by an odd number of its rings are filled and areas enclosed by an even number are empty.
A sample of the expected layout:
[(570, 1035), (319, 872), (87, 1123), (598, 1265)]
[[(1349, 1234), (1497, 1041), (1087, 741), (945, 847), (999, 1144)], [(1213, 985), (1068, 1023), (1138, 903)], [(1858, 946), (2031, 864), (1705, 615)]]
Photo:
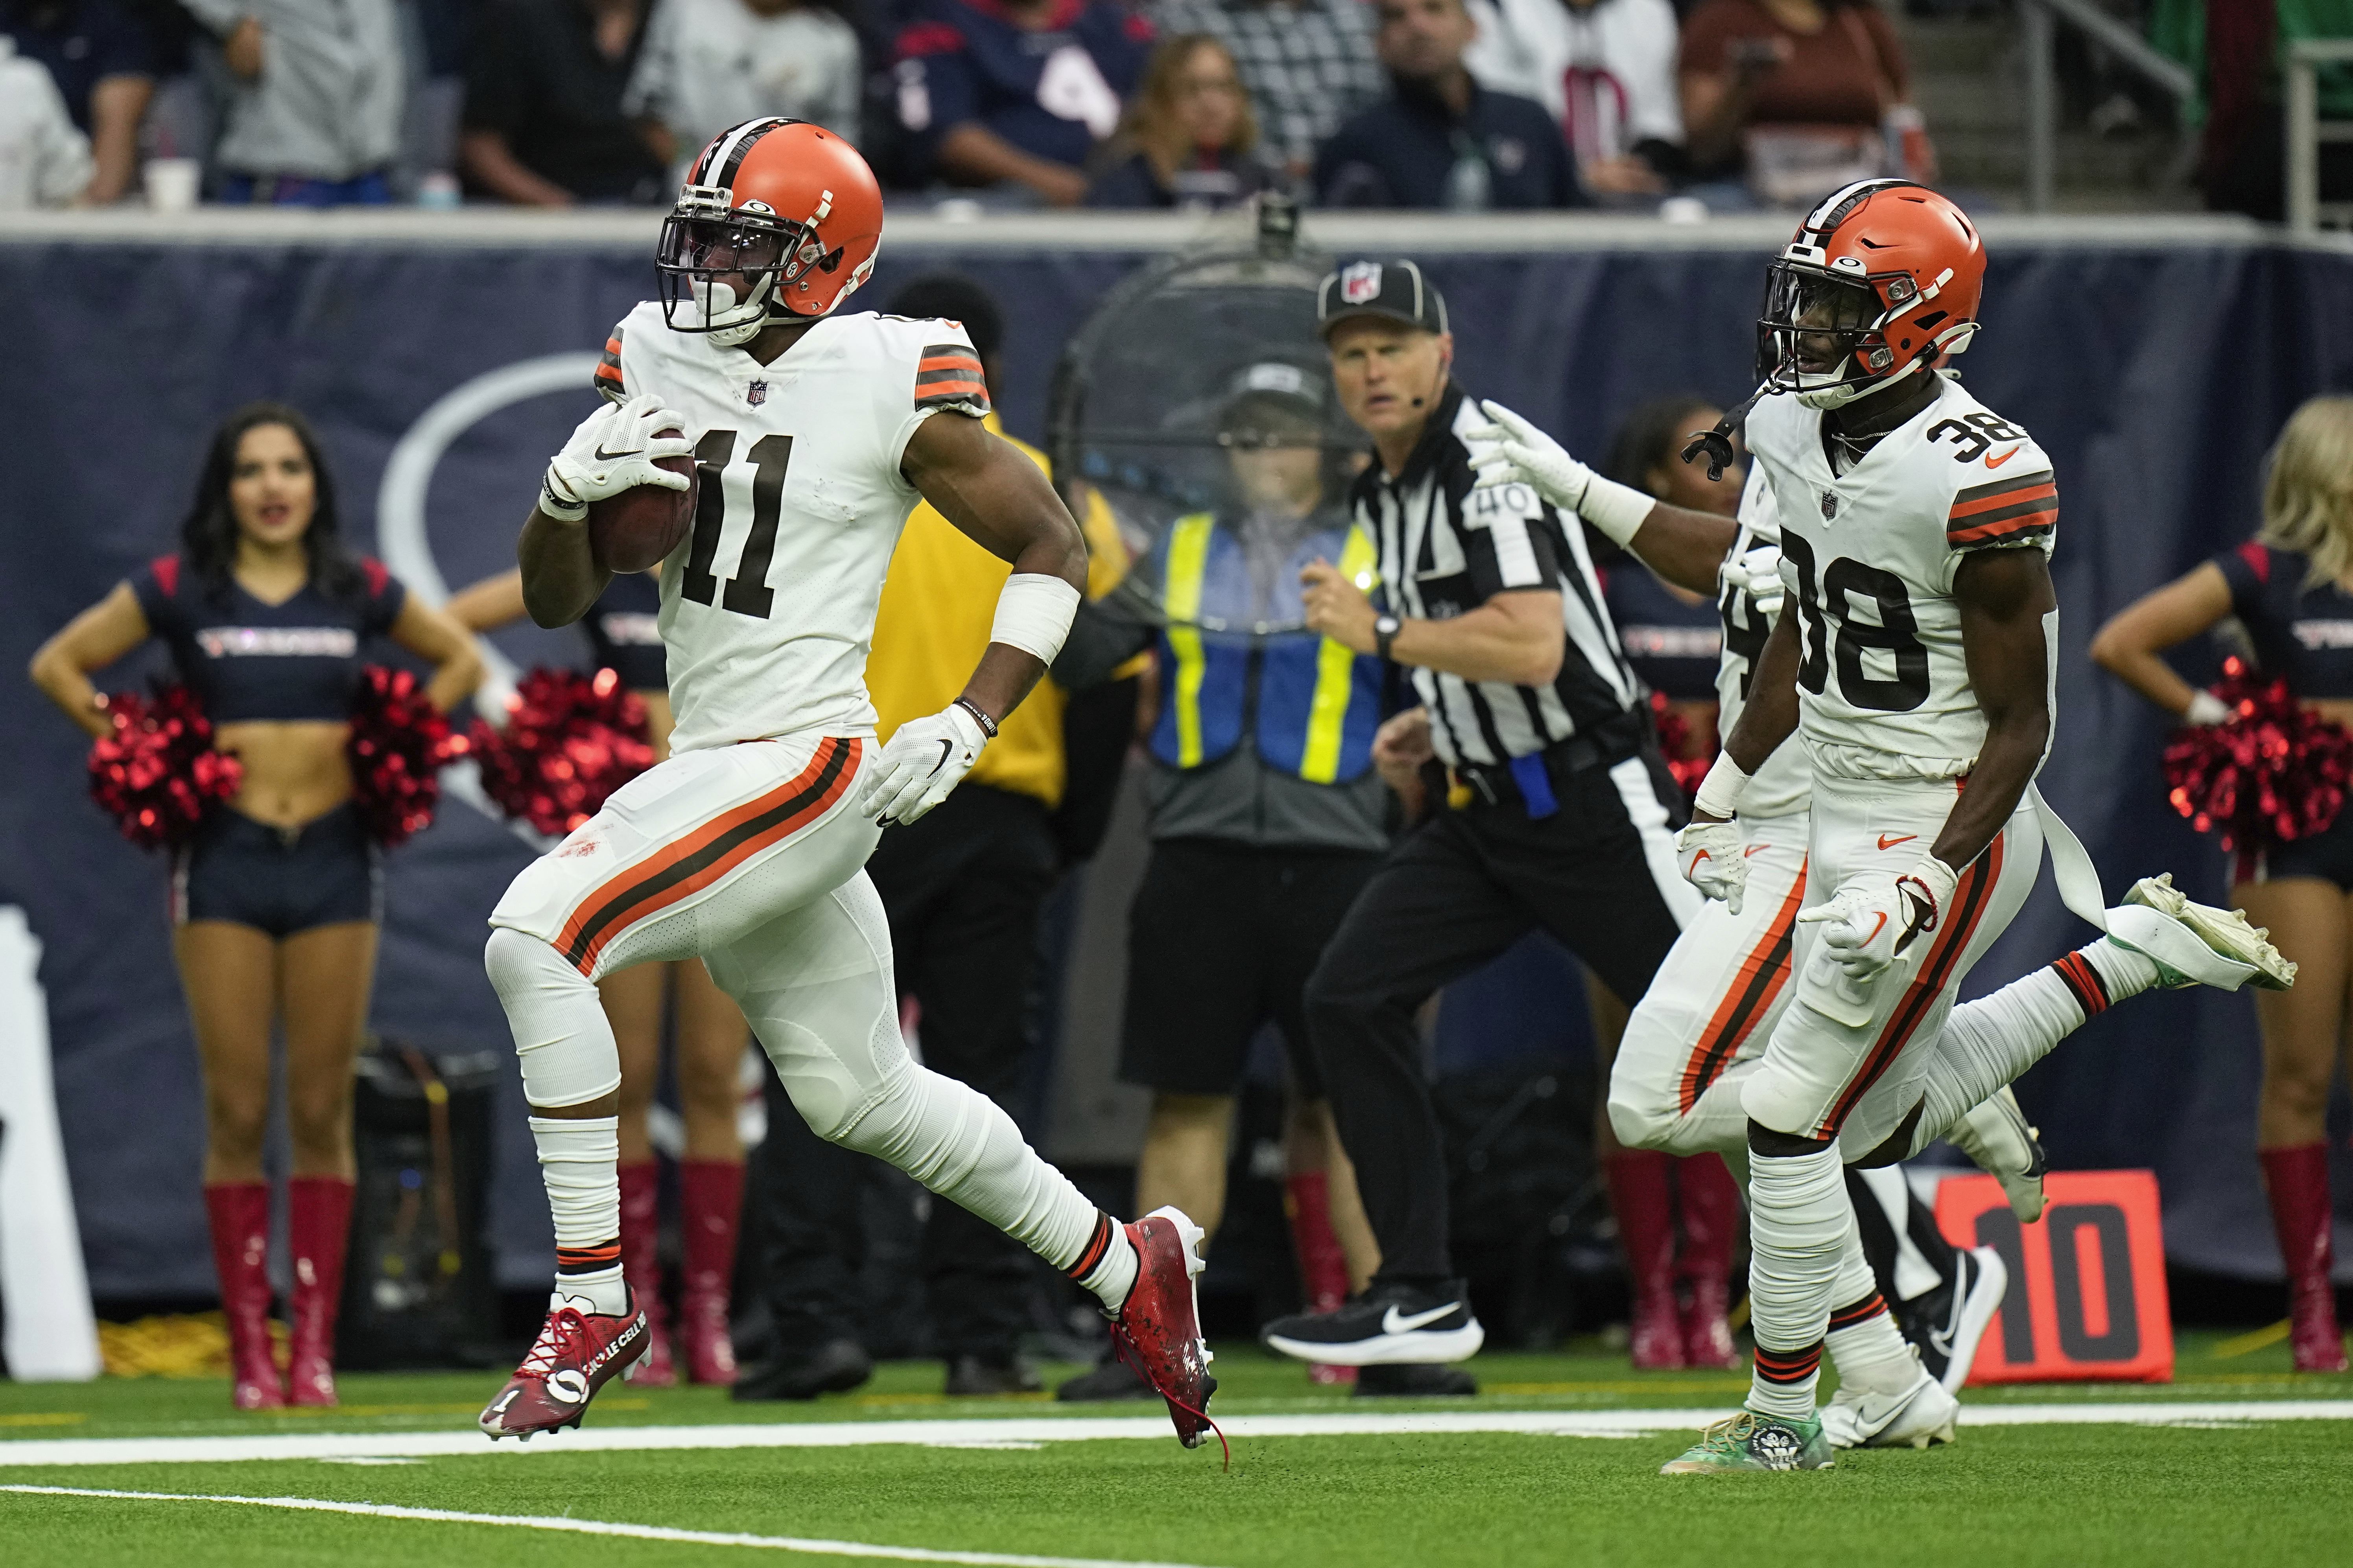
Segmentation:
[[(953, 275), (918, 277), (889, 310), (962, 322), (984, 381), (998, 383), (1005, 324), (986, 289)], [(1005, 435), (995, 414), (984, 423)], [(1014, 447), (1047, 468), (1035, 447)], [(1127, 569), (1127, 552), (1101, 496), (1089, 494), (1080, 527), (1094, 552), (1087, 588), (1108, 592)], [(878, 743), (955, 701), (988, 646), (1009, 571), (929, 503), (906, 520), (866, 661)], [(885, 830), (866, 863), (889, 914), (899, 994), (920, 1009), (925, 1065), (1007, 1107), (1028, 1077), (1024, 1009), (1038, 917), (1061, 872), (1052, 816), (1066, 778), (1064, 701), (1054, 682), (1038, 682), (998, 724), (958, 790), (920, 820)], [(734, 1396), (814, 1399), (856, 1387), (873, 1371), (856, 1288), (868, 1161), (809, 1133), (774, 1077), (767, 1126), (751, 1180), (762, 1234), (760, 1288), (776, 1342), (736, 1380)], [(948, 1363), (946, 1392), (1035, 1392), (1038, 1373), (1014, 1354), (1028, 1328), (1031, 1265), (1021, 1244), (955, 1204), (932, 1204), (922, 1274)]]

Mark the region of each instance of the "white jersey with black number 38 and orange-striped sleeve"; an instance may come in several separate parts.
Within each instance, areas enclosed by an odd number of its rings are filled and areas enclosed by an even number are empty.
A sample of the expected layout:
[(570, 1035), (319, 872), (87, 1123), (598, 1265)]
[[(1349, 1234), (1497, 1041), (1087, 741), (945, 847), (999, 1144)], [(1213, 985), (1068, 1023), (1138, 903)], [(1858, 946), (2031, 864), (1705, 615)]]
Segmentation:
[(1953, 574), (1974, 550), (2049, 555), (2049, 458), (1948, 378), (1845, 475), (1821, 449), (1821, 411), (1786, 395), (1748, 414), (1748, 451), (1781, 522), (1788, 611), (1802, 616), (1798, 731), (1814, 766), (1840, 778), (1967, 773), (1986, 717)]

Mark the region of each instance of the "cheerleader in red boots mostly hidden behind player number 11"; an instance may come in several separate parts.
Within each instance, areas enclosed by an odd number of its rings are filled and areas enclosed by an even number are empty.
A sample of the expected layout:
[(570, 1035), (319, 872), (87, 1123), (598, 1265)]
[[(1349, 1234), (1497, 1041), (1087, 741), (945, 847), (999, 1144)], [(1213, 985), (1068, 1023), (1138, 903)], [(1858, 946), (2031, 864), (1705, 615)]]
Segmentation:
[[(600, 670), (645, 701), (654, 762), (671, 755), (671, 684), (661, 628), (661, 588), (654, 574), (614, 574), (581, 628)], [(522, 574), (482, 578), (449, 599), (449, 614), (475, 632), (522, 618)], [(652, 1328), (645, 1361), (633, 1382), (678, 1378), (661, 1298), (656, 1258), (656, 1166), (645, 1133), (645, 1112), (661, 1081), (661, 1018), (678, 1009), (678, 1105), (687, 1124), (687, 1152), (678, 1161), (680, 1220), (685, 1232), (685, 1293), (678, 1305), (678, 1338), (687, 1378), (734, 1382), (734, 1342), (727, 1331), (727, 1295), (734, 1279), (736, 1215), (744, 1206), (744, 1145), (736, 1138), (736, 1072), (751, 1041), (751, 1025), (736, 1004), (711, 983), (701, 961), (638, 964), (598, 983), (605, 1018), (621, 1046), (621, 1272), (645, 1305)]]

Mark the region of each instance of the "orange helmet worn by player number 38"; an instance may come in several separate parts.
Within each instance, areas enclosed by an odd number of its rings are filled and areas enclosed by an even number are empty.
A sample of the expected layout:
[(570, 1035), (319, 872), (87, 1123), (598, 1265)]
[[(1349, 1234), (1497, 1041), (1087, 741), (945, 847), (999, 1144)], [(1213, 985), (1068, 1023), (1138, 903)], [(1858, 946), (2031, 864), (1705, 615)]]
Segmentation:
[(1946, 197), (1901, 179), (1835, 190), (1765, 273), (1758, 378), (1852, 402), (1967, 348), (1984, 284), (1986, 247)]

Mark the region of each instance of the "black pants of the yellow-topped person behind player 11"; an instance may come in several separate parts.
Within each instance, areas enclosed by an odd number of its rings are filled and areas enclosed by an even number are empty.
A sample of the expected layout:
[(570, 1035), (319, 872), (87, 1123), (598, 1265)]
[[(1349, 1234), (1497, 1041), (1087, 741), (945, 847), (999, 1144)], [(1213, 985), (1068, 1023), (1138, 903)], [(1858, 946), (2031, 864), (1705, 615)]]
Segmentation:
[[(925, 1067), (960, 1079), (1009, 1112), (1031, 1070), (1026, 1020), (1038, 964), (1038, 917), (1054, 889), (1056, 849), (1045, 802), (967, 783), (906, 827), (889, 827), (866, 863), (889, 917), (899, 994), (922, 1009)], [(866, 1157), (821, 1140), (767, 1077), (767, 1140), (751, 1159), (760, 1208), (760, 1288), (781, 1356), (859, 1338)], [(955, 1204), (929, 1206), (925, 1298), (946, 1361), (1005, 1363), (1028, 1328), (1026, 1246)]]

